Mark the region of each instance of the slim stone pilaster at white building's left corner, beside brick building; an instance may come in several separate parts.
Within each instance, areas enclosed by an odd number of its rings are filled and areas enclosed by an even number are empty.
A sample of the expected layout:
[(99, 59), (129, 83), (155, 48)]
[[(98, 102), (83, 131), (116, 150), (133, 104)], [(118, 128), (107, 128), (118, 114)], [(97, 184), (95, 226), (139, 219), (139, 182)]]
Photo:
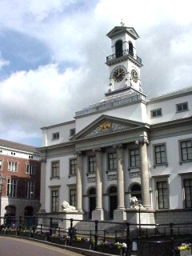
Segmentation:
[(46, 213), (46, 159), (41, 162), (40, 209), (38, 214)]

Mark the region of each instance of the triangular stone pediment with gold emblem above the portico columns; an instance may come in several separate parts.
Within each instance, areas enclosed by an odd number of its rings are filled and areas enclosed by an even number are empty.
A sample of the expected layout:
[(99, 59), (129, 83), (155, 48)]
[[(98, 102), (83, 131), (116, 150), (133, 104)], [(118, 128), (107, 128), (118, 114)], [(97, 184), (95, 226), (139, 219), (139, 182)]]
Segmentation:
[(145, 126), (145, 124), (142, 122), (102, 115), (100, 118), (90, 123), (89, 126), (79, 131), (78, 134), (75, 134), (71, 140), (114, 134), (122, 130), (132, 130), (143, 126)]

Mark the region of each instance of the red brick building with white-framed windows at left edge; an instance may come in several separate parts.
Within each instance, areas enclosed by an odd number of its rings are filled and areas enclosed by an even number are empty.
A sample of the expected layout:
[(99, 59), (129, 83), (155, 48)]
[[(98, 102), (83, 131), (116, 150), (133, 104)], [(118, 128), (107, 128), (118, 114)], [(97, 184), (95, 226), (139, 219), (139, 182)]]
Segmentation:
[(0, 174), (6, 178), (1, 195), (2, 218), (18, 219), (38, 212), (40, 171), (40, 154), (34, 146), (0, 139)]

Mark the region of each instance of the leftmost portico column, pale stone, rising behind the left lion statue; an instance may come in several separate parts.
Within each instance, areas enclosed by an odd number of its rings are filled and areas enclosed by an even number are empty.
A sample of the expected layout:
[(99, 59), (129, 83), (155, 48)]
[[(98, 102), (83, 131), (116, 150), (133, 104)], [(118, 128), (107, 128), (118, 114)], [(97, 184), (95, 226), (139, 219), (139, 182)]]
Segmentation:
[(82, 154), (77, 154), (77, 210), (82, 211)]

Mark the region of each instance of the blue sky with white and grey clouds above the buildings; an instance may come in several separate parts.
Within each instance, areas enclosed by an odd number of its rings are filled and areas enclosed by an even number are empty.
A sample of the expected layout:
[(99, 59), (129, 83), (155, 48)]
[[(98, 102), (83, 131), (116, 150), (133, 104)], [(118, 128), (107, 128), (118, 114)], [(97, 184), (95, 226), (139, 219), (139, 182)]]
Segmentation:
[(191, 1), (0, 0), (0, 138), (41, 146), (109, 90), (106, 34), (134, 27), (148, 98), (192, 86)]

